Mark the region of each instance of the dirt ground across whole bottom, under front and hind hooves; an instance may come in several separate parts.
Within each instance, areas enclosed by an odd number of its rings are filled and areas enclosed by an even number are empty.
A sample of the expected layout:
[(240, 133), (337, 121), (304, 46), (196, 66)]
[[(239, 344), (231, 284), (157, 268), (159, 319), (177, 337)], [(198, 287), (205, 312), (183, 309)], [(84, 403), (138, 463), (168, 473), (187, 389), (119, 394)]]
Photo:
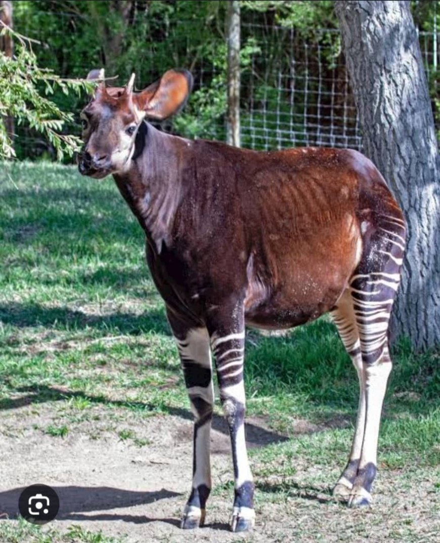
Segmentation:
[[(23, 487), (42, 483), (53, 487), (60, 497), (58, 517), (48, 526), (63, 531), (76, 524), (105, 535), (125, 535), (127, 543), (388, 539), (422, 542), (435, 541), (438, 537), (436, 520), (430, 513), (435, 496), (430, 495), (432, 484), (423, 475), (409, 491), (394, 477), (396, 474), (382, 473), (375, 488), (379, 495), (375, 512), (353, 512), (331, 500), (325, 483), (314, 489), (308, 484), (307, 490), (302, 490), (301, 481), (307, 481), (308, 477), (310, 480), (310, 474), (316, 471), (312, 461), (304, 468), (298, 466), (296, 495), (279, 503), (270, 494), (266, 499), (263, 490), (257, 490), (257, 523), (251, 534), (228, 531), (232, 489), (227, 486), (211, 496), (206, 527), (181, 531), (178, 519), (191, 484), (189, 418), (167, 415), (143, 419), (141, 434), (151, 444), (139, 448), (119, 440), (114, 433), (91, 439), (84, 427), (69, 432), (66, 438), (45, 435), (35, 425), (49, 416), (49, 412), (46, 407), (40, 407), (38, 412), (32, 409), (32, 406), (20, 407), (7, 412), (3, 420), (8, 428), (0, 433), (3, 518), (16, 516)], [(263, 421), (248, 423), (247, 439), (251, 447), (284, 439), (266, 430)], [(313, 430), (298, 422), (299, 433)], [(226, 428), (218, 419), (212, 432), (214, 485), (231, 479), (229, 450)], [(405, 530), (402, 528), (405, 522), (410, 533), (401, 532)]]

